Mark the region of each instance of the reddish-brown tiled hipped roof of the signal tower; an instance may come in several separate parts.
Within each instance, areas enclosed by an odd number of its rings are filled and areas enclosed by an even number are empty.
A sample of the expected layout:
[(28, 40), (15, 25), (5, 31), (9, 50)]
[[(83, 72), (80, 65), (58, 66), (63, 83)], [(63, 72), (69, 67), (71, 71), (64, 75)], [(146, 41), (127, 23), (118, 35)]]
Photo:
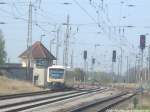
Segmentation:
[(28, 48), (19, 57), (20, 58), (27, 58), (29, 53), (31, 52), (30, 50), (32, 50), (32, 58), (33, 59), (47, 58), (47, 59), (51, 59), (51, 60), (56, 60), (56, 58), (48, 51), (48, 49), (46, 47), (44, 47), (44, 45), (39, 41), (35, 42), (31, 46), (31, 49)]

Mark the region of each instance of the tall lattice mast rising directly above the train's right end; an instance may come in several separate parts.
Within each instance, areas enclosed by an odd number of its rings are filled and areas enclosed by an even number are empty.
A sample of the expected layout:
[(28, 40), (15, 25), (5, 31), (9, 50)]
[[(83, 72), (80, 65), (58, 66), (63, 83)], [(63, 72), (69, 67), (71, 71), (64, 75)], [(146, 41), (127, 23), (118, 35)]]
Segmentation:
[(68, 66), (68, 52), (69, 52), (69, 37), (70, 37), (70, 27), (69, 27), (70, 17), (67, 16), (67, 28), (66, 28), (66, 35), (64, 39), (64, 54), (63, 54), (63, 65), (65, 67)]

